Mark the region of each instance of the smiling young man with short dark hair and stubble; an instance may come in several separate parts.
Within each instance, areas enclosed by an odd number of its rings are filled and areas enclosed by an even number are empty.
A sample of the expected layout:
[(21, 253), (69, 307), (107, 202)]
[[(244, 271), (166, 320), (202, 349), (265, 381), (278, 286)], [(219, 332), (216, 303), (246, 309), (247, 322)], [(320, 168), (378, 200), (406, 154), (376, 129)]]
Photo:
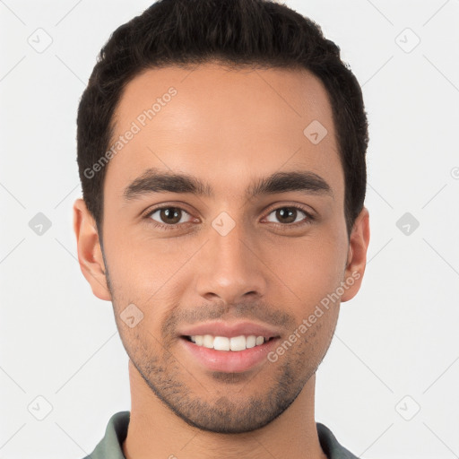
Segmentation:
[(77, 136), (79, 262), (132, 394), (89, 457), (356, 457), (314, 414), (369, 242), (339, 48), (285, 5), (162, 0), (102, 48)]

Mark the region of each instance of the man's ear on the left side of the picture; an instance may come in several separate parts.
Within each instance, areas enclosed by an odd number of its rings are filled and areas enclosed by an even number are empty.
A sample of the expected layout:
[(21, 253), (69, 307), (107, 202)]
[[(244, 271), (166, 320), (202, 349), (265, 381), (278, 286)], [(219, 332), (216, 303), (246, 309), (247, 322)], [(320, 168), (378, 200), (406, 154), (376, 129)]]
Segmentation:
[(81, 198), (74, 202), (74, 233), (82, 275), (96, 297), (111, 301), (97, 226)]

